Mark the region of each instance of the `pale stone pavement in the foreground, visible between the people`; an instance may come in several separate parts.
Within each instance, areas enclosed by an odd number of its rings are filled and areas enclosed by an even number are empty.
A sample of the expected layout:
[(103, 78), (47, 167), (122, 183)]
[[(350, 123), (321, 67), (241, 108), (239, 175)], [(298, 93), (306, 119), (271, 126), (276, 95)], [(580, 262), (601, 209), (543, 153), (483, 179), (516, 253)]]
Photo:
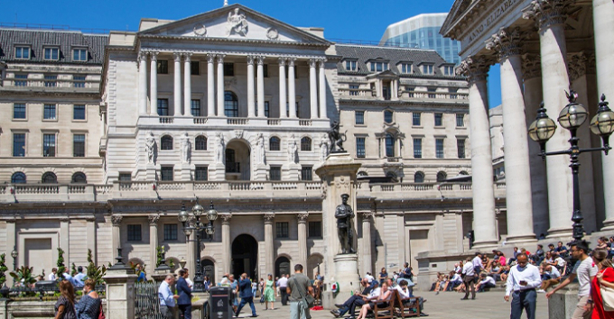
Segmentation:
[[(497, 290), (479, 293), (476, 300), (461, 301), (464, 296), (459, 293), (442, 292), (435, 296), (433, 292), (419, 292), (416, 296), (423, 296), (427, 302), (424, 304), (424, 312), (429, 314), (428, 318), (471, 318), (471, 319), (495, 319), (509, 318), (510, 303), (503, 300), (505, 291)], [(510, 300), (511, 301), (511, 300)], [(256, 313), (258, 319), (285, 319), (290, 318), (289, 306), (283, 306), (276, 302), (274, 310), (266, 310), (265, 306), (256, 302)], [(244, 308), (239, 315), (249, 317), (251, 310), (249, 306)], [(329, 310), (312, 311), (312, 319), (333, 319)], [(523, 314), (523, 318), (526, 315)], [(537, 312), (535, 319), (548, 318), (548, 301), (545, 294), (537, 294)]]

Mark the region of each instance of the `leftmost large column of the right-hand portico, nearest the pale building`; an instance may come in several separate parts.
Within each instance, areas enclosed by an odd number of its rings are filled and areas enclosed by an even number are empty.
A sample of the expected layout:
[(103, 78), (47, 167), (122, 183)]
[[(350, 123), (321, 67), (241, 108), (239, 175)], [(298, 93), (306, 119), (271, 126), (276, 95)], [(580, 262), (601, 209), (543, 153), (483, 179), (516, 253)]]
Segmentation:
[(468, 57), (457, 72), (469, 80), (469, 113), (471, 136), (471, 172), (473, 176), (473, 230), (476, 248), (498, 243), (493, 189), (492, 153), (488, 124), (488, 89), (486, 78), (490, 63), (486, 57)]

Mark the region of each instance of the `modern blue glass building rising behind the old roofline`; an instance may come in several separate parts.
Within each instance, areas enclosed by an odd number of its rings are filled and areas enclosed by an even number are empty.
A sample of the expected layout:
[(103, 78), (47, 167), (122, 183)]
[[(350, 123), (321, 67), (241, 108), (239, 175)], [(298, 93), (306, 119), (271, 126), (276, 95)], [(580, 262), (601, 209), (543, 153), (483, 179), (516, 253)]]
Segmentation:
[(390, 24), (379, 41), (382, 46), (436, 50), (443, 59), (459, 64), (460, 42), (439, 34), (448, 14), (419, 14)]

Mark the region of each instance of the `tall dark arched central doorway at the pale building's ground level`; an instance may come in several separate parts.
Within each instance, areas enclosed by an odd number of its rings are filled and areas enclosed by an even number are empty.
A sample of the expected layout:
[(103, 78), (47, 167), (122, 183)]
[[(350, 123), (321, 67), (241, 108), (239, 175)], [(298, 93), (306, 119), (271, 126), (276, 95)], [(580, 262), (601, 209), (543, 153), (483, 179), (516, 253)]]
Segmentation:
[(258, 242), (254, 237), (242, 234), (232, 242), (232, 269), (230, 272), (239, 278), (247, 273), (250, 278), (256, 278), (256, 265), (258, 260)]

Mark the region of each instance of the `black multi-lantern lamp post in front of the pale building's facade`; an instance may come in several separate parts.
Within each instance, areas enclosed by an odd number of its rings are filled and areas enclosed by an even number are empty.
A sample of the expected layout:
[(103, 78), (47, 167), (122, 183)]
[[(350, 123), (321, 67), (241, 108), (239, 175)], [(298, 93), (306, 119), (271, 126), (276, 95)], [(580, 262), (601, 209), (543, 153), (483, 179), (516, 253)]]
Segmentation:
[[(179, 213), (179, 221), (183, 224), (183, 233), (185, 233), (187, 242), (196, 242), (196, 270), (194, 271), (194, 292), (205, 291), (205, 278), (202, 274), (202, 266), (200, 265), (200, 240), (204, 237), (203, 232), (209, 235), (209, 240), (212, 239), (215, 233), (213, 228), (213, 221), (218, 218), (218, 211), (213, 207), (213, 201), (209, 205), (209, 211), (205, 215), (209, 220), (209, 223), (200, 223), (200, 215), (204, 213), (205, 209), (199, 204), (198, 198), (196, 199), (196, 205), (191, 209), (191, 214), (185, 209), (185, 204), (181, 203), (181, 212)], [(193, 218), (191, 218), (193, 217)], [(191, 233), (194, 232), (195, 239), (190, 239)]]

